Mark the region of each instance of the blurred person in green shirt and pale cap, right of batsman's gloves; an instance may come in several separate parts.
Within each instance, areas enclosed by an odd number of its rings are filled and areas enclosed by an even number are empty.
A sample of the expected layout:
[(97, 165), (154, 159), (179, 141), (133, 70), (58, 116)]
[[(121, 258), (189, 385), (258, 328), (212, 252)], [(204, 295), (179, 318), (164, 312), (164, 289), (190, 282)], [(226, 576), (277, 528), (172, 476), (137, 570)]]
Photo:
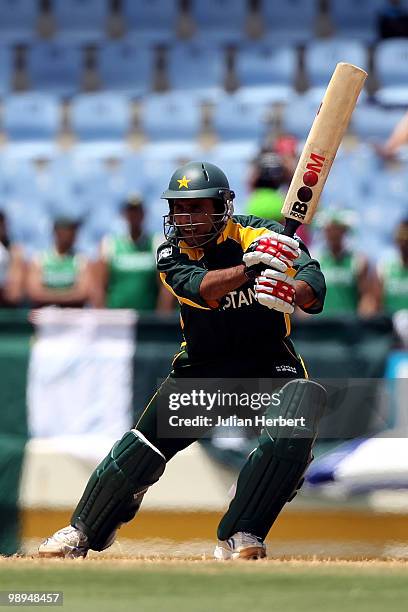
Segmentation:
[(316, 254), (326, 278), (327, 294), (323, 315), (375, 312), (375, 299), (368, 260), (347, 247), (346, 239), (353, 222), (347, 211), (320, 214), (325, 246)]

